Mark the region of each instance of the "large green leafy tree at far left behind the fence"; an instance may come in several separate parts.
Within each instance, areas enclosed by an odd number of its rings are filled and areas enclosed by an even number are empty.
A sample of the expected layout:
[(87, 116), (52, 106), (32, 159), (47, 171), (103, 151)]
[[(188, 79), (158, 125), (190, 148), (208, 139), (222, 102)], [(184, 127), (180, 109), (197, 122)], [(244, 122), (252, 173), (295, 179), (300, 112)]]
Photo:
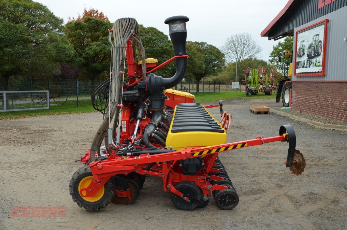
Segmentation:
[(52, 76), (74, 56), (62, 19), (32, 0), (0, 1), (0, 76), (3, 90), (12, 75)]

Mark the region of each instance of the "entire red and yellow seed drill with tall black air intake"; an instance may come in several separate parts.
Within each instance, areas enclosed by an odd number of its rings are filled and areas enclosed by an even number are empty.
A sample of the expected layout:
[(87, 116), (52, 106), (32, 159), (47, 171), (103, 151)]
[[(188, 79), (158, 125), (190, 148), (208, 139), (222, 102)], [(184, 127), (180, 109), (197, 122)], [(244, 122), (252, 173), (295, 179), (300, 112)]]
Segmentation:
[[(92, 95), (104, 120), (93, 138), (90, 160), (73, 174), (69, 185), (80, 207), (99, 210), (111, 202), (133, 204), (146, 177), (152, 176), (162, 179), (164, 191), (180, 210), (205, 207), (210, 199), (221, 209), (232, 209), (239, 197), (218, 154), (276, 141), (289, 143), (286, 167), (296, 175), (304, 171), (305, 159), (295, 150), (296, 136), (290, 125), (281, 126), (278, 136), (225, 144), (231, 116), (223, 111), (222, 102), (204, 107), (195, 103), (193, 95), (170, 89), (187, 70), (188, 20), (186, 16), (165, 20), (175, 56), (160, 65), (146, 60), (135, 19), (114, 23), (109, 32), (110, 79)], [(174, 76), (153, 73), (173, 60)], [(220, 109), (220, 122), (206, 110), (213, 107)], [(105, 150), (100, 149), (103, 143)]]

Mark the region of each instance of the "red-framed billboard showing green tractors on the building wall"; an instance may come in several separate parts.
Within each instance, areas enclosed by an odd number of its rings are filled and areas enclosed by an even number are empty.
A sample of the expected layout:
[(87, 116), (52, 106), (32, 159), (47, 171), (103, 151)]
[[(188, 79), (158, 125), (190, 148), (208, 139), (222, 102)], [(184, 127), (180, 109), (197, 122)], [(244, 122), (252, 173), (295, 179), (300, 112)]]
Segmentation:
[(324, 75), (324, 52), (328, 20), (296, 32), (295, 75)]

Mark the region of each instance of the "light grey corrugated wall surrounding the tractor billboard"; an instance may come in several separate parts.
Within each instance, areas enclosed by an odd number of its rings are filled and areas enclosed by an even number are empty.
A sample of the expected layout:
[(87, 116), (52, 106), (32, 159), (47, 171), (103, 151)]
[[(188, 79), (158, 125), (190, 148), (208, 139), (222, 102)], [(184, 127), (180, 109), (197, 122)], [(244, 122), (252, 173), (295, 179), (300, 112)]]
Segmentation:
[[(341, 3), (342, 0), (336, 2)], [(328, 5), (329, 6), (329, 5)], [(327, 6), (327, 7), (328, 7)], [(323, 7), (324, 8), (324, 7)], [(314, 23), (320, 22), (324, 19), (329, 19), (327, 44), (324, 48), (325, 52), (325, 76), (301, 76), (293, 77), (292, 80), (324, 80), (324, 81), (337, 81), (347, 80), (347, 41), (344, 41), (344, 37), (347, 37), (347, 7), (340, 8), (327, 14), (323, 17), (312, 20), (299, 27), (294, 28), (294, 44), (296, 44), (295, 33), (299, 29), (310, 26)], [(294, 46), (295, 47), (295, 46)], [(295, 54), (296, 52), (293, 51)], [(294, 64), (294, 63), (293, 63)], [(294, 65), (293, 65), (294, 73)]]

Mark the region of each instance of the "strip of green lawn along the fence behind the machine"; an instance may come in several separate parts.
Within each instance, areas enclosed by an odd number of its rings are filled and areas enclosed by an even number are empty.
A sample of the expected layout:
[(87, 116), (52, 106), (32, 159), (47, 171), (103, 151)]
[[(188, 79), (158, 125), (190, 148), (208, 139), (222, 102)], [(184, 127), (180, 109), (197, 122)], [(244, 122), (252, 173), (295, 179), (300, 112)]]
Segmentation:
[[(273, 93), (271, 96), (259, 94), (259, 95), (249, 95), (248, 97), (243, 94), (243, 92), (217, 92), (217, 93), (204, 93), (199, 92), (195, 95), (196, 102), (218, 102), (219, 100), (232, 100), (232, 99), (243, 99), (243, 100), (275, 100), (276, 95)], [(78, 108), (76, 101), (67, 101), (63, 105), (55, 105), (51, 103), (50, 109), (44, 110), (29, 110), (29, 111), (16, 111), (16, 112), (0, 112), (0, 120), (14, 119), (14, 118), (25, 118), (34, 116), (46, 116), (46, 115), (56, 115), (56, 114), (69, 114), (69, 113), (87, 113), (95, 112), (90, 100), (79, 100)]]

